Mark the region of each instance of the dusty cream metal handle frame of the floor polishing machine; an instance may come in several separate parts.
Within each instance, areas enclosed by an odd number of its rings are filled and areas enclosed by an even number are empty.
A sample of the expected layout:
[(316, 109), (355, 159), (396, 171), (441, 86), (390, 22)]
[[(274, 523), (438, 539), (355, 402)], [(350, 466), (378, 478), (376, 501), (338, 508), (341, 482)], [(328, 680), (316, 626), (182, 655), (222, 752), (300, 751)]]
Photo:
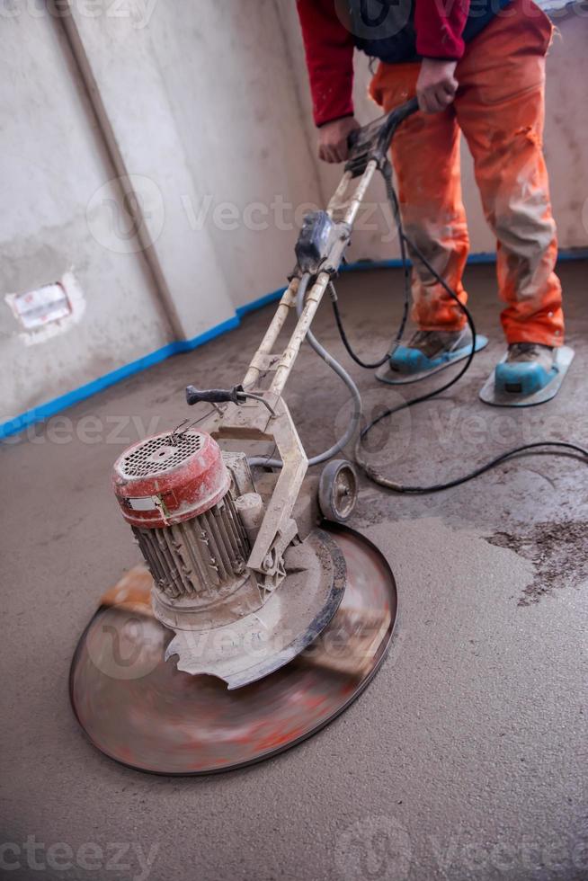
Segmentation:
[[(201, 401), (215, 406), (201, 425), (218, 441), (270, 441), (275, 443), (282, 467), (272, 498), (247, 561), (264, 578), (278, 576), (281, 558), (297, 533), (292, 511), (307, 474), (308, 459), (282, 393), (300, 347), (316, 315), (325, 290), (344, 260), (361, 202), (378, 169), (388, 164), (388, 148), (397, 127), (418, 110), (413, 99), (370, 125), (352, 132), (350, 155), (326, 211), (307, 215), (297, 245), (297, 266), (281, 297), (262, 343), (254, 354), (240, 386), (230, 390), (186, 389), (189, 404)], [(275, 344), (292, 311), (298, 287), (310, 276), (304, 307), (290, 340), (281, 352)], [(265, 384), (265, 385), (263, 385)]]

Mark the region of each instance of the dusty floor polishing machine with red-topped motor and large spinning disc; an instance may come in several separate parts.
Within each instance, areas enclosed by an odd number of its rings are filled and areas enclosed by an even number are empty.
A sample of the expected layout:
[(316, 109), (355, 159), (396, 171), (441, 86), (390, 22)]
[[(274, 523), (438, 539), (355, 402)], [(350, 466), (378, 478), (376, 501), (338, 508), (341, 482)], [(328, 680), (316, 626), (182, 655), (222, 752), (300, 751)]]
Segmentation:
[[(358, 481), (351, 462), (333, 458), (351, 432), (308, 460), (283, 391), (302, 343), (320, 348), (316, 309), (397, 126), (416, 110), (407, 102), (354, 133), (327, 209), (304, 220), (290, 285), (243, 382), (188, 386), (188, 404), (209, 404), (197, 427), (139, 441), (114, 465), (145, 565), (102, 597), (76, 648), (70, 696), (92, 743), (115, 760), (164, 774), (259, 761), (341, 713), (385, 657), (394, 577), (344, 525)], [(256, 443), (276, 458), (252, 457)], [(318, 461), (322, 473), (309, 476)]]

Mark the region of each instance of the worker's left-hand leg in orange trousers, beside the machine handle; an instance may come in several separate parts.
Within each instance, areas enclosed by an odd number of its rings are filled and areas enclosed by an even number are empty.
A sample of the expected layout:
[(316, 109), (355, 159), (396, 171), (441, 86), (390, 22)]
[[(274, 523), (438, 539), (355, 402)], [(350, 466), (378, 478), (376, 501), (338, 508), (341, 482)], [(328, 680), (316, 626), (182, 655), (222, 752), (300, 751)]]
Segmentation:
[[(372, 98), (388, 112), (413, 97), (419, 68), (380, 64), (370, 85)], [(468, 258), (468, 227), (455, 111), (414, 114), (396, 131), (392, 156), (405, 233), (465, 303), (461, 276)], [(413, 302), (413, 318), (421, 330), (457, 331), (466, 323), (459, 306), (416, 257)]]

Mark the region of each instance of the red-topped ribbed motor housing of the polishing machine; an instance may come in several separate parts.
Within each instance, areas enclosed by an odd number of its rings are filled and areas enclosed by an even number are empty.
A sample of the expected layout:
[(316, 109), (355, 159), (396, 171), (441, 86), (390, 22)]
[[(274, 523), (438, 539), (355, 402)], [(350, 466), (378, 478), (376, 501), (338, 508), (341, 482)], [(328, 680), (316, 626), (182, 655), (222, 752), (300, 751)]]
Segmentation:
[(209, 629), (261, 607), (263, 592), (246, 566), (254, 535), (209, 434), (165, 432), (139, 441), (117, 459), (113, 486), (153, 575), (162, 623)]

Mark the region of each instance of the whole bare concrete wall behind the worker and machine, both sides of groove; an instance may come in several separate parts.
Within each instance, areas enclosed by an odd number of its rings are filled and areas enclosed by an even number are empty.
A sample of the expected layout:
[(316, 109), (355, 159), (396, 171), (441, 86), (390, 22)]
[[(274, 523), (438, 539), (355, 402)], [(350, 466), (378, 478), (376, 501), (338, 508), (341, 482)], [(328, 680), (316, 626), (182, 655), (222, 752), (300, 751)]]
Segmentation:
[[(292, 0), (40, 4), (2, 13), (0, 425), (281, 287), (320, 165)], [(588, 19), (559, 22), (546, 153), (561, 245), (586, 245)], [(357, 58), (358, 116), (366, 58)], [(474, 252), (494, 250), (471, 162)], [(397, 255), (380, 185), (352, 257)], [(6, 209), (8, 207), (8, 209)], [(26, 333), (4, 297), (57, 280), (74, 314)]]

